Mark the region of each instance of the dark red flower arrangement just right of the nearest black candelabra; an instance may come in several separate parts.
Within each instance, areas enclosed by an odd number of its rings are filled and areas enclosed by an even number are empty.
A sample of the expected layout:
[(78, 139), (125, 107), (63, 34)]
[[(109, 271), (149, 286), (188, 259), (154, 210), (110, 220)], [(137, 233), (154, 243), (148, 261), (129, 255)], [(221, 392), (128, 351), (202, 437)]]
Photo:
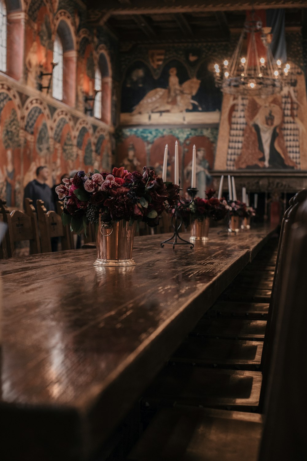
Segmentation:
[(214, 197), (215, 190), (206, 190), (206, 198), (195, 197), (191, 205), (180, 210), (185, 226), (190, 224), (190, 219), (203, 221), (205, 218), (212, 218), (215, 221), (223, 219), (227, 213), (226, 200)]

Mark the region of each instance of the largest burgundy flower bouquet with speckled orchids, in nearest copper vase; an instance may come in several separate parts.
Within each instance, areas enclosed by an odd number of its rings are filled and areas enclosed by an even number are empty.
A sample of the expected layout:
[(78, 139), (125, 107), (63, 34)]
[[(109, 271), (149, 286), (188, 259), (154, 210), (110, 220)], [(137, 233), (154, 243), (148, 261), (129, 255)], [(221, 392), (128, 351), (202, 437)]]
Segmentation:
[(85, 174), (78, 171), (73, 178), (63, 179), (56, 187), (60, 200), (64, 200), (64, 225), (80, 233), (89, 222), (145, 221), (151, 227), (159, 223), (165, 202), (170, 206), (178, 196), (178, 186), (163, 183), (151, 168), (128, 172), (123, 167), (113, 168), (112, 173), (95, 170)]

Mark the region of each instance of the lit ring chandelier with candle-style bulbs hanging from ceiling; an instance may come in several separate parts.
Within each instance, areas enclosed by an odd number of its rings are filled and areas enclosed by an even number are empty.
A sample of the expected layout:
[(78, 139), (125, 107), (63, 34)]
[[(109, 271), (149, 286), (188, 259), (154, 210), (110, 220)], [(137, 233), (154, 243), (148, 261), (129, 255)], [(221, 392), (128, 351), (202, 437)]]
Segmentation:
[(262, 22), (254, 12), (245, 21), (231, 59), (215, 64), (214, 69), (215, 86), (231, 95), (266, 97), (280, 93), (283, 83), (296, 85), (290, 65), (274, 61)]

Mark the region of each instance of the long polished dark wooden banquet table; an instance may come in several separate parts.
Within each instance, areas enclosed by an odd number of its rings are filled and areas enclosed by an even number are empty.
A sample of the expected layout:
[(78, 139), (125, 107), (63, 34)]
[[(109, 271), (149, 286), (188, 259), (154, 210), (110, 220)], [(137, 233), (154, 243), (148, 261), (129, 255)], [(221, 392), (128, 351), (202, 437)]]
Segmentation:
[(2, 260), (0, 459), (90, 459), (272, 232), (136, 237), (122, 268), (94, 249)]

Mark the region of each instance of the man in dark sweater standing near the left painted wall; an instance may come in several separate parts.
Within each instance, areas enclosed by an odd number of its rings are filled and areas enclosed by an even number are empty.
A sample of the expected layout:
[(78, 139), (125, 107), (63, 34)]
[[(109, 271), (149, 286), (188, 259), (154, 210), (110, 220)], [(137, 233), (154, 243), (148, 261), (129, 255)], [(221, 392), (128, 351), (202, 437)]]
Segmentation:
[[(33, 200), (33, 205), (36, 208), (36, 200), (44, 201), (47, 211), (55, 211), (54, 202), (52, 197), (52, 190), (46, 184), (49, 178), (49, 168), (45, 166), (39, 166), (36, 168), (36, 179), (30, 181), (24, 188), (24, 198), (30, 198)], [(25, 207), (24, 207), (25, 208)]]

